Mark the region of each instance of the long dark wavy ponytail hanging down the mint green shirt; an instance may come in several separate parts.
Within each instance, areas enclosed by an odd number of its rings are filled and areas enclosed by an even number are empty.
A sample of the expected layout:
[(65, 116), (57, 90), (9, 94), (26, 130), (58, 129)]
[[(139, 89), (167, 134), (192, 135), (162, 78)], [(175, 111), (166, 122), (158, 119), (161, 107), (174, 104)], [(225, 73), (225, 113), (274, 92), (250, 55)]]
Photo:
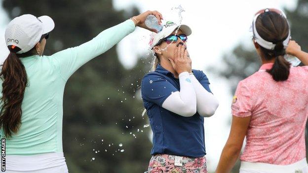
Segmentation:
[(24, 65), (17, 57), (16, 52), (20, 49), (8, 46), (10, 54), (7, 56), (0, 72), (2, 83), (0, 128), (6, 138), (17, 133), (21, 125), (21, 104), (28, 83)]

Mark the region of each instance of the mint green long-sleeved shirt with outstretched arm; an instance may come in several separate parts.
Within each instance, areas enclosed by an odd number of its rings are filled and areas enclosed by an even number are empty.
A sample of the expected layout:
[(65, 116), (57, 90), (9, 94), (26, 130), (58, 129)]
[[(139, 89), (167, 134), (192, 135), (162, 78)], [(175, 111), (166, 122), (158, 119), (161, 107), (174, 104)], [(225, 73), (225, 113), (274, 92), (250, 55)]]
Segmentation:
[[(134, 30), (134, 22), (127, 20), (77, 47), (51, 56), (20, 58), (29, 86), (22, 102), (21, 127), (11, 138), (6, 138), (6, 154), (63, 152), (63, 93), (67, 80), (86, 62), (106, 52)], [(2, 91), (2, 83), (0, 89)], [(4, 138), (2, 129), (0, 137)]]

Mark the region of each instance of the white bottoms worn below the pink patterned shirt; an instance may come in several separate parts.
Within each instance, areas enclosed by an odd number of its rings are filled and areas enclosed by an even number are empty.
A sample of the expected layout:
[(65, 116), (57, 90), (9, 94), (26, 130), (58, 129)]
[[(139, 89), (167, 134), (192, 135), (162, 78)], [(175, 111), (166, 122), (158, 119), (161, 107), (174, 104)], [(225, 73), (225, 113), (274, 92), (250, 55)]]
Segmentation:
[(270, 173), (295, 173), (295, 171), (301, 170), (307, 166), (308, 164), (306, 158), (304, 158), (303, 160), (300, 160), (290, 165), (273, 165), (267, 163), (242, 161), (240, 169)]

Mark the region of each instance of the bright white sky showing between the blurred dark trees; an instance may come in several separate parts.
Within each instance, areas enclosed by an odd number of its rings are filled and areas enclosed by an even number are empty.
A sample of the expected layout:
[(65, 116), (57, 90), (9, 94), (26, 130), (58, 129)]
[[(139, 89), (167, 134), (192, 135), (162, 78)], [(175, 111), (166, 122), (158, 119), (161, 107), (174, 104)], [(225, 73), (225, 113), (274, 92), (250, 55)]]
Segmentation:
[[(167, 20), (178, 22), (179, 17), (172, 7), (181, 5), (183, 22), (192, 28), (188, 50), (193, 69), (207, 67), (224, 68), (222, 55), (228, 54), (234, 46), (242, 42), (251, 44), (249, 31), (255, 12), (259, 9), (286, 7), (293, 9), (296, 0), (114, 0), (116, 9), (128, 9), (136, 5), (140, 11), (157, 10)], [(9, 22), (2, 7), (0, 9), (0, 62), (8, 54), (4, 42), (5, 26)], [(128, 18), (131, 16), (127, 16)], [(135, 65), (138, 56), (147, 53), (151, 33), (136, 29), (117, 46), (121, 62), (126, 68)], [(207, 74), (213, 93), (218, 97), (220, 106), (215, 115), (205, 119), (205, 146), (208, 171), (215, 171), (221, 151), (229, 136), (231, 123), (231, 99), (229, 83), (211, 71)], [(149, 151), (150, 152), (150, 151)]]

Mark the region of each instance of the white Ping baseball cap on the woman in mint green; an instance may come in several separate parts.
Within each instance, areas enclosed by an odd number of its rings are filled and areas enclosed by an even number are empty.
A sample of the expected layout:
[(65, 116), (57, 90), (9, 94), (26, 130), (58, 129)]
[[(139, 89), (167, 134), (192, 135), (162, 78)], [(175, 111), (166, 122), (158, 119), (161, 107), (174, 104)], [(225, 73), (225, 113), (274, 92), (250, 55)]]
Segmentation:
[(54, 22), (49, 16), (36, 17), (32, 14), (24, 14), (14, 18), (6, 27), (6, 46), (14, 45), (22, 54), (28, 52), (39, 42), (42, 35), (54, 29)]

